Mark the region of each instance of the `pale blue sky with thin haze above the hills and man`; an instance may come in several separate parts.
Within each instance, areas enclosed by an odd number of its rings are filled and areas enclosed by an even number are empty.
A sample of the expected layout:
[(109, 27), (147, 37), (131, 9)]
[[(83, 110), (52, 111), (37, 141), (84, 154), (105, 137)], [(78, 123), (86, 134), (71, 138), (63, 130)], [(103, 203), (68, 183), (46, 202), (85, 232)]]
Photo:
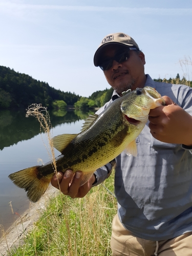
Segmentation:
[(89, 97), (110, 88), (93, 56), (105, 35), (123, 32), (154, 78), (192, 80), (192, 0), (0, 0), (0, 66)]

